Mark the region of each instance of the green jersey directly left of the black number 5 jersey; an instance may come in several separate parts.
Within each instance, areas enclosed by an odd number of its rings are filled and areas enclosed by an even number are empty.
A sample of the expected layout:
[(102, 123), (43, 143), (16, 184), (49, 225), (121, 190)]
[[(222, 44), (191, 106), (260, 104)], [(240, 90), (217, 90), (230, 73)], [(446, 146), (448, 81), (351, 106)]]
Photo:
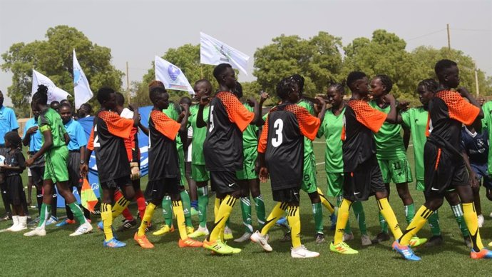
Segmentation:
[[(198, 108), (200, 105), (195, 104), (190, 107), (190, 116), (188, 121), (190, 121), (191, 128), (193, 129), (193, 140), (191, 141), (191, 163), (204, 165), (205, 157), (203, 156), (203, 142), (205, 141), (205, 136), (207, 136), (207, 127), (198, 128), (197, 127), (197, 116)], [(203, 120), (208, 121), (210, 106), (205, 106), (203, 108)]]

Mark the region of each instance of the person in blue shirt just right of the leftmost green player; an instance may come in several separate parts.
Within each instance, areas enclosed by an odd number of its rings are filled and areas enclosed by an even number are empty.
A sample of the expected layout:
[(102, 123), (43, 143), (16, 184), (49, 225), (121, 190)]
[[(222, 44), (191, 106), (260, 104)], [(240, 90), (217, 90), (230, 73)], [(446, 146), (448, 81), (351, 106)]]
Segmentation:
[[(81, 179), (81, 165), (83, 164), (83, 157), (86, 156), (86, 145), (87, 145), (87, 137), (85, 132), (83, 131), (82, 125), (72, 118), (72, 106), (68, 103), (63, 103), (60, 105), (60, 109), (58, 110), (61, 116), (61, 121), (63, 121), (63, 125), (65, 126), (66, 132), (68, 136), (70, 136), (70, 142), (68, 142), (68, 185), (70, 189), (73, 191), (73, 188), (77, 188), (78, 195), (81, 195), (82, 182)], [(66, 224), (75, 224), (75, 218), (73, 217), (73, 213), (68, 207), (66, 208), (66, 220), (61, 221), (56, 224), (56, 226), (65, 226)], [(83, 209), (83, 215), (90, 220), (91, 212), (88, 209)]]

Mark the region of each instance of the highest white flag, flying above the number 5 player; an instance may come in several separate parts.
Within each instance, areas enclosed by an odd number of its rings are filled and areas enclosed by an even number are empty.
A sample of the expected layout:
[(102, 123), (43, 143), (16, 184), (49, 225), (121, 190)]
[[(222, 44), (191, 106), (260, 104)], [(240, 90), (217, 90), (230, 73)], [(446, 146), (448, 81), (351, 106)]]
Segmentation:
[(250, 56), (233, 49), (231, 46), (200, 32), (200, 63), (230, 64), (247, 75), (247, 61)]

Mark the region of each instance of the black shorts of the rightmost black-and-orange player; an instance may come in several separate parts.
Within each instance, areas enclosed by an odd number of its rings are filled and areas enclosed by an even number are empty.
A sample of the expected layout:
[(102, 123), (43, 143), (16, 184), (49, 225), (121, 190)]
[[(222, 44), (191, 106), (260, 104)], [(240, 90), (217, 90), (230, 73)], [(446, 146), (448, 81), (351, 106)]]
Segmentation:
[(446, 191), (456, 186), (470, 186), (463, 158), (453, 156), (429, 141), (424, 148), (424, 166), (426, 196), (444, 196)]

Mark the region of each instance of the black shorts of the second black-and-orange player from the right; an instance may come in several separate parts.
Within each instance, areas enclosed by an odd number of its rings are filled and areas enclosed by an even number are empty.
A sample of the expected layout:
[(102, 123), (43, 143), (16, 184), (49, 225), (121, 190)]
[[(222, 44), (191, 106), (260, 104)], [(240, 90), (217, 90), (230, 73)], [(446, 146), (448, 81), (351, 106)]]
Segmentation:
[(352, 202), (366, 201), (374, 193), (386, 191), (376, 156), (359, 164), (353, 172), (345, 172), (343, 188), (344, 198)]

